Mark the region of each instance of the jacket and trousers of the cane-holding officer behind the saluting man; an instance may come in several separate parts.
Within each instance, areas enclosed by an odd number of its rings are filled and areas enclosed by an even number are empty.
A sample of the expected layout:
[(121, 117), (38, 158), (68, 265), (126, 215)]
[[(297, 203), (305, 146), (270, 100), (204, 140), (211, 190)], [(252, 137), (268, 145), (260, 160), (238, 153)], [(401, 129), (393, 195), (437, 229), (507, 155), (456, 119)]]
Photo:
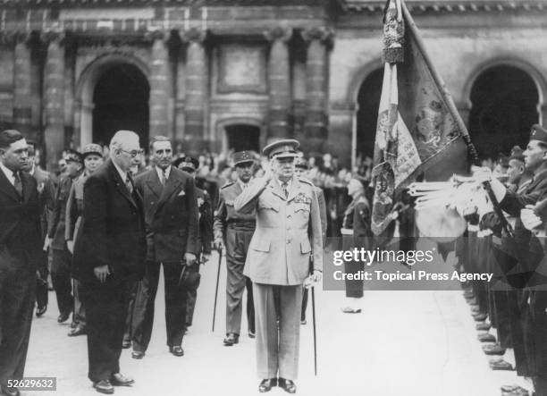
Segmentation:
[(227, 183), (219, 193), (215, 211), (215, 239), (226, 246), (226, 334), (240, 334), (243, 291), (247, 289), (248, 330), (255, 333), (255, 309), (252, 283), (243, 274), (250, 240), (257, 225), (256, 212), (236, 212), (234, 201), (243, 191), (240, 181)]

